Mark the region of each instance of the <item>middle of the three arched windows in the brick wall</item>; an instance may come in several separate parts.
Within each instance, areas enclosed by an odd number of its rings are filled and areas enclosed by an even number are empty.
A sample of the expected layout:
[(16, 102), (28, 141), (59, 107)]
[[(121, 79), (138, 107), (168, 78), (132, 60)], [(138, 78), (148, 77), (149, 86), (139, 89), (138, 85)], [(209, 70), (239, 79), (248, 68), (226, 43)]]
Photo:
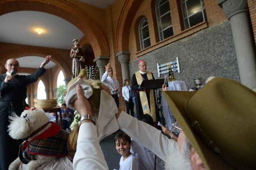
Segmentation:
[(174, 35), (169, 0), (156, 1), (156, 18), (160, 41)]

